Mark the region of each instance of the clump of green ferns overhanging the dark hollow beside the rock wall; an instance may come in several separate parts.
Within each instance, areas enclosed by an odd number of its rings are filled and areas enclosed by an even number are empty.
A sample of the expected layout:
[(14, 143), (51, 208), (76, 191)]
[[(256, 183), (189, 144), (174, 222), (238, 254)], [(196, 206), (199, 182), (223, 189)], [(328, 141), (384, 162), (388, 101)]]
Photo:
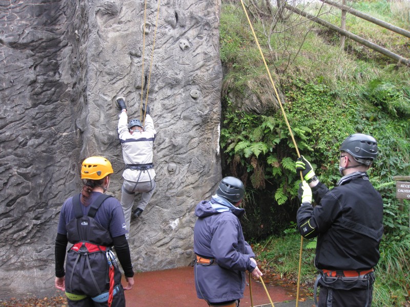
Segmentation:
[[(285, 123), (279, 116), (259, 116), (235, 110), (229, 98), (226, 102), (220, 145), (233, 174), (249, 178), (255, 189), (265, 188), (269, 181), (276, 186), (274, 200), (279, 205), (285, 204), (290, 196), (297, 194), (294, 183), (298, 180), (295, 177), (296, 155), (289, 155), (293, 143)], [(302, 148), (311, 150), (305, 136), (311, 130), (305, 124), (295, 125), (294, 135)], [(240, 170), (242, 173), (237, 173)]]

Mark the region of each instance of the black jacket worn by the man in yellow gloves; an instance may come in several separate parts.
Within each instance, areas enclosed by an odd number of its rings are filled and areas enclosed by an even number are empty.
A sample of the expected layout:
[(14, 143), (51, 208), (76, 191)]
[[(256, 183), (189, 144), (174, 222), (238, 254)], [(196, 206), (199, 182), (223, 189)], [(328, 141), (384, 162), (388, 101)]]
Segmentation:
[(312, 188), (317, 205), (313, 208), (305, 204), (299, 208), (298, 226), (310, 225), (313, 232), (305, 237), (318, 237), (315, 258), (318, 269), (371, 269), (380, 258), (382, 198), (365, 172), (345, 176), (340, 182), (332, 190), (322, 183)]

